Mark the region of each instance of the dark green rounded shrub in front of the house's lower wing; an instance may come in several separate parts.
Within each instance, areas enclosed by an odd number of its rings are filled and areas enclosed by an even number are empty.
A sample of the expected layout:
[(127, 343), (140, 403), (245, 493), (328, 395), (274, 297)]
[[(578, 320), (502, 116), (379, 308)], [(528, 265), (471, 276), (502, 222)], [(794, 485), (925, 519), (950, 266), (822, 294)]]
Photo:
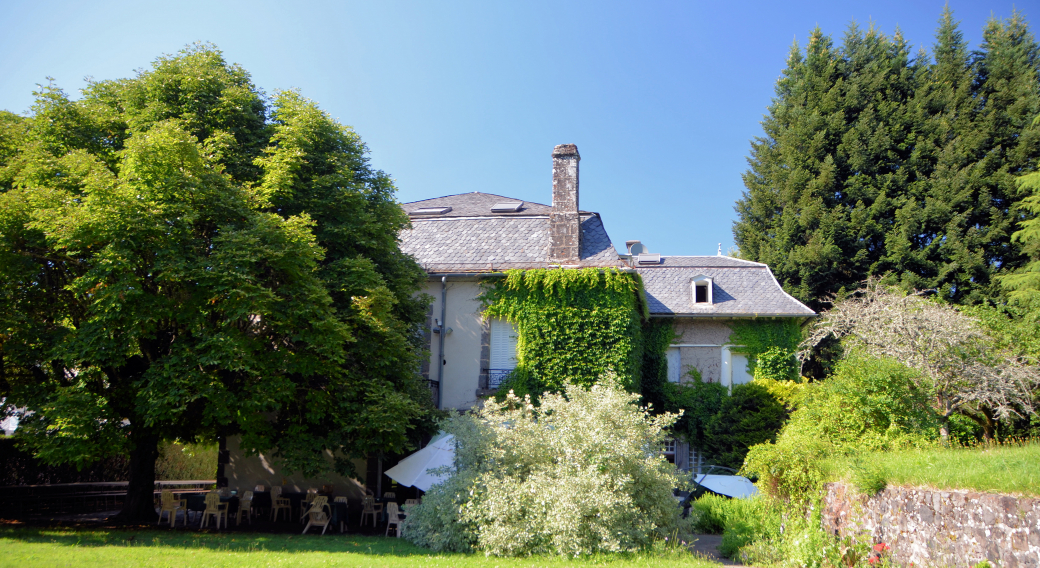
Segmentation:
[(776, 440), (786, 420), (787, 410), (765, 387), (737, 385), (708, 421), (704, 451), (711, 463), (739, 469), (748, 448)]

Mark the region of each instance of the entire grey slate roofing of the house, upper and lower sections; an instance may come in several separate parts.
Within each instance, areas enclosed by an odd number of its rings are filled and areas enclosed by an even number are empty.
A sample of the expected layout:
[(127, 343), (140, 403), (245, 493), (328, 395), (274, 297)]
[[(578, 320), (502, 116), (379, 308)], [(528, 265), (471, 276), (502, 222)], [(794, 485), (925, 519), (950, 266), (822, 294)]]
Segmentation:
[[(488, 273), (549, 267), (549, 213), (540, 203), (517, 212), (492, 213), (491, 207), (521, 200), (493, 193), (460, 193), (401, 205), (412, 212), (450, 207), (435, 215), (410, 214), (400, 249), (431, 274)], [(618, 256), (598, 213), (581, 212), (581, 266), (627, 267)], [(651, 315), (747, 317), (815, 315), (780, 287), (769, 266), (725, 256), (666, 256), (660, 264), (638, 266)], [(712, 304), (695, 305), (691, 281), (712, 279)]]

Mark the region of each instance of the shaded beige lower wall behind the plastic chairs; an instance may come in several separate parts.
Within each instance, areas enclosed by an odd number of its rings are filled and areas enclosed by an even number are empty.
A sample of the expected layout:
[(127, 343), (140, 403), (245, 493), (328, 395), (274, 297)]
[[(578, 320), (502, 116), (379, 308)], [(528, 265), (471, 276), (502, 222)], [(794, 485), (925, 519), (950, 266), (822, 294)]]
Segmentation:
[[(264, 455), (245, 456), (238, 446), (238, 436), (228, 437), (228, 454), (230, 463), (225, 466), (228, 476), (228, 487), (237, 489), (239, 493), (252, 490), (257, 485), (270, 488), (276, 485), (283, 491), (307, 491), (310, 488), (319, 489), (322, 485), (332, 485), (336, 495), (346, 495), (352, 499), (360, 499), (365, 494), (364, 480), (350, 480), (342, 475), (330, 473), (320, 477), (305, 477), (300, 473), (285, 472), (274, 459)], [(330, 457), (330, 461), (332, 458)], [(355, 460), (354, 466), (362, 477), (365, 474), (365, 462)]]

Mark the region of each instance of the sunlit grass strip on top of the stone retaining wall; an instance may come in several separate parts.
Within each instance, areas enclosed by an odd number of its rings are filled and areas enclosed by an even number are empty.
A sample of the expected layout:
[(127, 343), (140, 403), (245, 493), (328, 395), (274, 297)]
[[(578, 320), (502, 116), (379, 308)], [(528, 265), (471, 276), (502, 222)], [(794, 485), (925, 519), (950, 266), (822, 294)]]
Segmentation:
[(888, 485), (968, 489), (1040, 496), (1040, 444), (927, 448), (831, 459), (835, 480), (854, 480), (877, 468)]

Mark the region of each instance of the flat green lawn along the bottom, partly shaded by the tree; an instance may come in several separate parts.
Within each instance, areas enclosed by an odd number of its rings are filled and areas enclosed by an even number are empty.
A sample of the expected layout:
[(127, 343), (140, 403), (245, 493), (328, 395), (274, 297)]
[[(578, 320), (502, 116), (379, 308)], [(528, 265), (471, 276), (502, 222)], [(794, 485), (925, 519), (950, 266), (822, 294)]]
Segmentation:
[(0, 567), (8, 566), (714, 568), (718, 564), (684, 551), (601, 556), (577, 561), (560, 558), (488, 559), (483, 554), (432, 553), (402, 539), (339, 534), (293, 536), (5, 526), (0, 527)]

